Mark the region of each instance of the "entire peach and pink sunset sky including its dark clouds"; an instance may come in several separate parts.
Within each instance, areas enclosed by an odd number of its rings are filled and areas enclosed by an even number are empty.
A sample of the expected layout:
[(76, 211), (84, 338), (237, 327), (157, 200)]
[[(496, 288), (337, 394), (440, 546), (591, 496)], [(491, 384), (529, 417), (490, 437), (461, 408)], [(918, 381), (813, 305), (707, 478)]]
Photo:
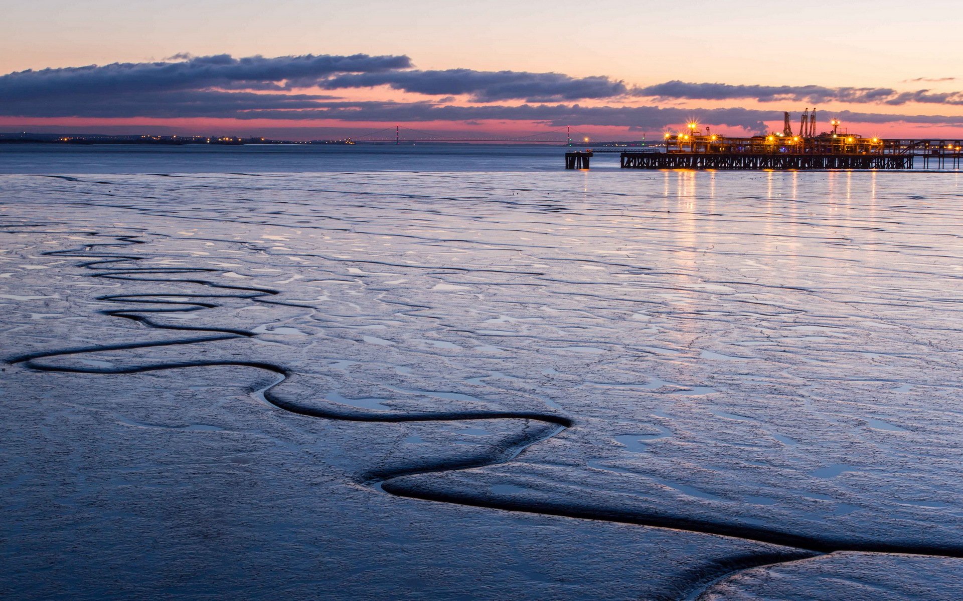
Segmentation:
[(0, 0), (0, 131), (963, 136), (958, 1)]

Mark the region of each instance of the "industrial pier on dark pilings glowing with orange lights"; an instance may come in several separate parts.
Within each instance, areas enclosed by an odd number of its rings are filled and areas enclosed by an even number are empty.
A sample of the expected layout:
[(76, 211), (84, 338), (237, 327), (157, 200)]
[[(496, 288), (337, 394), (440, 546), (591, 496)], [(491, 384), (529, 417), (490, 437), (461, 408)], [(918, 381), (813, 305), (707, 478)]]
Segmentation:
[[(863, 138), (840, 129), (816, 134), (816, 111), (803, 113), (797, 133), (790, 113), (782, 132), (752, 138), (712, 134), (695, 121), (688, 130), (664, 135), (665, 152), (621, 153), (626, 169), (912, 169), (920, 159), (924, 168), (959, 169), (963, 141), (950, 139)], [(566, 167), (568, 158), (566, 156)], [(586, 163), (587, 168), (587, 163)], [(574, 167), (574, 165), (573, 165)], [(573, 168), (568, 167), (568, 168)]]

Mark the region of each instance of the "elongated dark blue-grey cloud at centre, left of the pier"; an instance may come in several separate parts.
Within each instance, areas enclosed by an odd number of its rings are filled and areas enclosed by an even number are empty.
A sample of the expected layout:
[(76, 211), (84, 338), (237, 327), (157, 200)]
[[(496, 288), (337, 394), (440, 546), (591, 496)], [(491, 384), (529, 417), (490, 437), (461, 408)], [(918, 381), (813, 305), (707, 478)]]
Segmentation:
[(569, 77), (561, 73), (524, 71), (392, 71), (342, 75), (327, 80), (324, 88), (373, 88), (388, 86), (428, 95), (468, 95), (476, 102), (526, 99), (557, 102), (588, 98), (612, 98), (628, 91), (625, 84), (608, 77)]

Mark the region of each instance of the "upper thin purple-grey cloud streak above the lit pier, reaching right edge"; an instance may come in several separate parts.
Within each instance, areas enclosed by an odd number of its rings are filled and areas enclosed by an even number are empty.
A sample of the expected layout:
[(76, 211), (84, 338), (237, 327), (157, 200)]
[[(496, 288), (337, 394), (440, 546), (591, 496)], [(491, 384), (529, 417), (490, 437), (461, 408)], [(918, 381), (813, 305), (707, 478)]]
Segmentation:
[[(923, 80), (920, 80), (923, 81)], [(947, 80), (949, 81), (949, 80)], [(736, 86), (671, 81), (646, 88), (633, 88), (637, 96), (661, 99), (735, 100), (760, 102), (795, 101), (820, 104), (829, 101), (853, 104), (902, 105), (910, 102), (963, 105), (963, 92), (933, 93), (928, 89), (899, 92), (893, 88), (826, 88), (823, 86)]]

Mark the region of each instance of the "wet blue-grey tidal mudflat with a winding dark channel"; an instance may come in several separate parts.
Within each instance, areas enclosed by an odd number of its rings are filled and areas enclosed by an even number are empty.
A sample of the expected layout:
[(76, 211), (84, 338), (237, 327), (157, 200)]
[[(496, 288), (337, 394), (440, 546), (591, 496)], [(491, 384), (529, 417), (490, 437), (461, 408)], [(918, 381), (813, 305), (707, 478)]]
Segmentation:
[(0, 176), (5, 592), (958, 599), (963, 176)]

